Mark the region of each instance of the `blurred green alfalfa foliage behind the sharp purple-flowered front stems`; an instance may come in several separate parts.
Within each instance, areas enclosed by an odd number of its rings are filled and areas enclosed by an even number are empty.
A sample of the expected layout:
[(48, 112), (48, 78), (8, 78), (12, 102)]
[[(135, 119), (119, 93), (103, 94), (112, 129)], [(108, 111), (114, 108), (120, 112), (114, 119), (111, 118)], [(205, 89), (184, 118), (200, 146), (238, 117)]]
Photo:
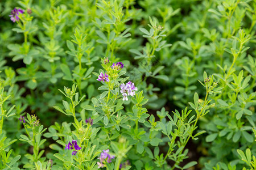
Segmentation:
[[(27, 11), (23, 15), (23, 24), (11, 22), (9, 15), (14, 7), (32, 10), (31, 15)], [(129, 76), (139, 91), (143, 91), (148, 99), (143, 107), (147, 108), (148, 116), (153, 115), (158, 121), (157, 145), (136, 143), (126, 137), (130, 140), (128, 146), (133, 146), (127, 152), (128, 158), (141, 159), (132, 160), (131, 169), (168, 169), (175, 165), (184, 168), (192, 160), (198, 162), (195, 167), (200, 169), (250, 168), (253, 158), (250, 160), (248, 156), (256, 155), (255, 23), (255, 0), (1, 1), (0, 70), (1, 88), (5, 89), (1, 94), (2, 114), (15, 105), (11, 111), (15, 115), (8, 117), (5, 113), (7, 116), (1, 119), (4, 121), (0, 136), (2, 159), (4, 153), (13, 149), (10, 161), (21, 155), (12, 164), (14, 167), (37, 168), (33, 159), (26, 156), (33, 153), (29, 143), (10, 142), (25, 132), (22, 124), (17, 123), (19, 116), (30, 113), (48, 128), (41, 136), (42, 140), (47, 139), (40, 147), (45, 150), (40, 159), (42, 167), (49, 158), (53, 159), (53, 168), (61, 167), (63, 162), (53, 154), (64, 155), (64, 149), (57, 146), (56, 140), (70, 141), (67, 135), (72, 135), (74, 127), (73, 118), (53, 108), (64, 108), (65, 98), (58, 89), (76, 84), (79, 95), (86, 95), (77, 106), (78, 119), (82, 119), (82, 114), (86, 118), (93, 116), (93, 108), (86, 106), (94, 105), (93, 97), (100, 97), (101, 83), (92, 73), (98, 73), (102, 69), (101, 58), (108, 57), (111, 62), (124, 63), (127, 73), (123, 76)], [(197, 80), (204, 81), (204, 71), (214, 75), (214, 81), (223, 87), (221, 94), (209, 96), (210, 104), (215, 104), (207, 108), (209, 113), (197, 123), (195, 132), (205, 130), (205, 133), (197, 140), (189, 140), (187, 146), (179, 137), (181, 143), (173, 146), (175, 151), (183, 145), (188, 148), (188, 160), (184, 155), (181, 159), (164, 159), (160, 155), (168, 155), (171, 145), (167, 136), (160, 133), (163, 127), (168, 127), (171, 120), (168, 116), (174, 117), (171, 111), (185, 107), (195, 110), (187, 119), (198, 114), (195, 105), (204, 101), (205, 89)], [(197, 101), (195, 92), (199, 96)], [(133, 112), (131, 100), (124, 106), (124, 113)], [(101, 125), (97, 127), (104, 126), (103, 117), (98, 119)], [(146, 116), (147, 123), (140, 125), (146, 133), (147, 128), (153, 127), (148, 119)], [(64, 129), (69, 129), (69, 133)], [(92, 138), (105, 138), (102, 131)], [(12, 144), (6, 146), (6, 143)], [(249, 165), (237, 152), (238, 149), (245, 152), (247, 148), (250, 154), (248, 151), (245, 159)], [(149, 160), (154, 161), (147, 163)], [(4, 161), (1, 163), (6, 168)]]

